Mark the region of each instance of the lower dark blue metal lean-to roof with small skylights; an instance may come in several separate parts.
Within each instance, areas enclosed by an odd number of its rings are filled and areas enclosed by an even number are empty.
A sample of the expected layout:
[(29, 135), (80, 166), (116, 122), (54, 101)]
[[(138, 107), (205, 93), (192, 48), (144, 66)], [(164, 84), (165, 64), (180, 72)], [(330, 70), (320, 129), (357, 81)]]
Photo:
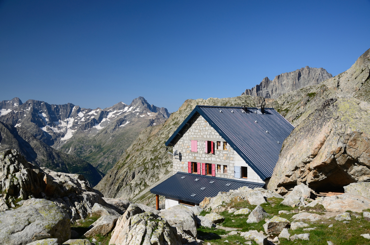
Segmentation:
[[(195, 179), (198, 179), (198, 181), (195, 181)], [(210, 183), (211, 181), (214, 182)], [(205, 197), (215, 197), (220, 191), (227, 192), (242, 186), (248, 186), (254, 189), (256, 187), (263, 187), (264, 185), (234, 179), (177, 172), (161, 182), (161, 184), (150, 189), (150, 192), (165, 197), (200, 203)], [(205, 188), (201, 189), (203, 187)], [(195, 194), (194, 197), (191, 196), (193, 194)]]

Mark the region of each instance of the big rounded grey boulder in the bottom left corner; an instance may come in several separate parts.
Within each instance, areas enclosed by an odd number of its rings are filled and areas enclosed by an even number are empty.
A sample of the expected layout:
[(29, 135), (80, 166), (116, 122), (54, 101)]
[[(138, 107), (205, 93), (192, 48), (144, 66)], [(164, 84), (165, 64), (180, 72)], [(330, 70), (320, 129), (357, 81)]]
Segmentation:
[(63, 243), (71, 236), (68, 214), (46, 199), (28, 199), (22, 207), (0, 212), (0, 241), (26, 245), (35, 240), (57, 238)]

